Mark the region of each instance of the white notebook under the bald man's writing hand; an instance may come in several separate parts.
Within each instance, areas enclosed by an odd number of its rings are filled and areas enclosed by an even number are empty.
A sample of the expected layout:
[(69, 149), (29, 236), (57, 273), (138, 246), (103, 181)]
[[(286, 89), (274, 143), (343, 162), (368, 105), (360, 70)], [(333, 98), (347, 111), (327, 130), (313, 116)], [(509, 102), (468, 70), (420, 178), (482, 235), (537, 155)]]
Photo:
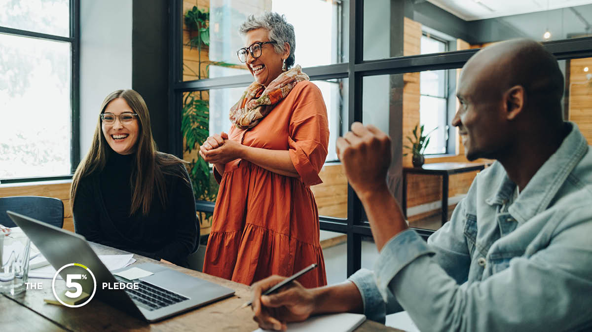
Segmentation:
[[(289, 332), (352, 332), (366, 320), (362, 314), (340, 314), (320, 315), (308, 318), (300, 323), (288, 323)], [(253, 332), (263, 332), (258, 328)]]

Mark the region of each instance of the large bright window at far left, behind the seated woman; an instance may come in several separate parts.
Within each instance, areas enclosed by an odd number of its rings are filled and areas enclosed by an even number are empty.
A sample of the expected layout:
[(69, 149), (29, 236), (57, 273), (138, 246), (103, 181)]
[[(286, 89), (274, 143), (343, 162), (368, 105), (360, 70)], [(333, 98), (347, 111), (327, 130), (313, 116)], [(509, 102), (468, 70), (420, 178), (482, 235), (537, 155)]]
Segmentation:
[(78, 163), (76, 0), (0, 1), (0, 180)]

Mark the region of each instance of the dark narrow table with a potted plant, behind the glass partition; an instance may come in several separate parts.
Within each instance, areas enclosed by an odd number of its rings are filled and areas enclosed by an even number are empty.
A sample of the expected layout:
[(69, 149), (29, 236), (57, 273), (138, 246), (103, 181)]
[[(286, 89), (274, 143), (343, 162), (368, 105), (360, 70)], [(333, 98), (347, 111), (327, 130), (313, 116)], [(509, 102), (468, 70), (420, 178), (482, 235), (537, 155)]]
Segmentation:
[(442, 176), (442, 225), (448, 221), (448, 180), (451, 174), (483, 170), (491, 163), (433, 163), (422, 167), (403, 167), (403, 215), (407, 218), (407, 174)]

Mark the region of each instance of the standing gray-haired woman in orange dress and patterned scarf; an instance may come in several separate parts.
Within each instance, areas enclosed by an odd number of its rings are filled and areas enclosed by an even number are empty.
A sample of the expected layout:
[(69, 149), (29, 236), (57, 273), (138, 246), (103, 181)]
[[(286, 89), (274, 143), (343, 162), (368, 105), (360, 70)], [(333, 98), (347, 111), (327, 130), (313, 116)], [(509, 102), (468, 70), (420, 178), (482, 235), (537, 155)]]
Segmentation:
[(250, 285), (317, 263), (298, 281), (326, 285), (310, 191), (329, 144), (323, 96), (300, 66), (289, 69), (294, 27), (283, 15), (251, 15), (239, 31), (246, 42), (237, 55), (255, 82), (230, 109), (229, 133), (200, 149), (220, 183), (204, 272)]

